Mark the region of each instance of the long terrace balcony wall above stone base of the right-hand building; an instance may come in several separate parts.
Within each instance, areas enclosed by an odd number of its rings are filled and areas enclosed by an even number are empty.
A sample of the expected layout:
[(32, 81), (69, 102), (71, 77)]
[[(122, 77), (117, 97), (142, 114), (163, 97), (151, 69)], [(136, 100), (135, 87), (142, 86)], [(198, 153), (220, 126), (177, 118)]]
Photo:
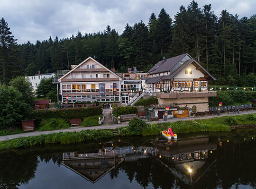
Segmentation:
[(217, 96), (216, 91), (206, 91), (206, 92), (183, 92), (183, 93), (157, 93), (156, 98), (200, 98), (200, 97), (210, 97)]

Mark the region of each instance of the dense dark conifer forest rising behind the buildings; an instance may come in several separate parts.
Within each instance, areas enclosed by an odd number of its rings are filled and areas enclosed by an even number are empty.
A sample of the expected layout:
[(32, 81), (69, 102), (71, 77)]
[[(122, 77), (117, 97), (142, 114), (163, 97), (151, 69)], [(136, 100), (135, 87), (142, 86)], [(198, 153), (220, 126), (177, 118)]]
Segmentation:
[[(139, 19), (139, 18), (138, 18)], [(219, 17), (211, 4), (199, 8), (192, 1), (180, 7), (174, 20), (161, 9), (147, 23), (126, 24), (122, 34), (106, 26), (93, 34), (59, 39), (51, 36), (35, 44), (18, 44), (7, 21), (0, 20), (0, 83), (15, 76), (32, 76), (71, 69), (89, 56), (116, 73), (127, 68), (147, 72), (163, 57), (189, 53), (217, 80), (213, 84), (256, 84), (256, 15), (250, 18), (222, 10)]]

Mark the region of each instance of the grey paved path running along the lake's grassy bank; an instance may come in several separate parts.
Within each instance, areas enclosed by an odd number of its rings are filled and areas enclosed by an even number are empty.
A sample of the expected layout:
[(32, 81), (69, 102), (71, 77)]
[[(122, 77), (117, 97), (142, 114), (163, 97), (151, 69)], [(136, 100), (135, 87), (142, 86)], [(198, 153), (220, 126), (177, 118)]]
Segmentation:
[[(256, 113), (256, 110), (252, 111), (245, 111), (240, 112), (240, 114), (249, 114), (249, 113)], [(233, 113), (225, 113), (220, 114), (221, 116), (227, 116), (227, 115), (234, 115)], [(238, 114), (235, 114), (238, 115)], [(218, 117), (217, 115), (208, 115), (208, 116), (200, 116), (200, 117), (186, 117), (186, 118), (175, 118), (173, 120), (169, 119), (167, 122), (174, 122), (179, 120), (200, 120), (200, 119), (209, 119), (213, 117)], [(153, 121), (146, 121), (146, 123), (152, 123)], [(163, 120), (157, 120), (155, 123), (162, 123)], [(25, 132), (15, 135), (6, 135), (6, 136), (0, 136), (0, 141), (9, 140), (13, 138), (19, 138), (19, 137), (29, 137), (29, 136), (38, 136), (38, 135), (44, 135), (44, 134), (50, 134), (50, 133), (58, 133), (58, 132), (72, 132), (72, 131), (81, 131), (86, 129), (117, 129), (121, 127), (128, 126), (128, 122), (123, 122), (120, 124), (112, 124), (112, 125), (100, 125), (100, 126), (93, 126), (93, 127), (73, 127), (69, 129), (59, 129), (59, 130), (51, 130), (51, 131), (34, 131), (34, 132)]]

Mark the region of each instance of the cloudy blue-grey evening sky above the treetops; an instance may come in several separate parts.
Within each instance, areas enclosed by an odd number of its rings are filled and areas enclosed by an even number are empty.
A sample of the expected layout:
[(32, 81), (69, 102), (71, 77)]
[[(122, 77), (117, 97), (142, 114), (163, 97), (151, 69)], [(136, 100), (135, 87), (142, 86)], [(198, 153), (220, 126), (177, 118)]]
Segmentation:
[[(0, 18), (4, 18), (18, 44), (104, 32), (110, 25), (122, 34), (128, 23), (141, 20), (147, 24), (152, 13), (158, 17), (162, 8), (174, 20), (183, 5), (192, 0), (1, 0)], [(223, 9), (239, 18), (256, 14), (256, 0), (198, 0), (199, 8), (211, 4), (219, 17)]]

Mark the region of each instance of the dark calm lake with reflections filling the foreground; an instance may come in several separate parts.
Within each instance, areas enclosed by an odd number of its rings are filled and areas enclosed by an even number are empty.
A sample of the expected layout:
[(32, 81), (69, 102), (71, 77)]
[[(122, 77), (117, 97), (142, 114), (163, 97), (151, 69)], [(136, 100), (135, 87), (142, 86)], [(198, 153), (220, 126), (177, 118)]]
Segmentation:
[(256, 189), (255, 137), (244, 129), (0, 151), (0, 188)]

